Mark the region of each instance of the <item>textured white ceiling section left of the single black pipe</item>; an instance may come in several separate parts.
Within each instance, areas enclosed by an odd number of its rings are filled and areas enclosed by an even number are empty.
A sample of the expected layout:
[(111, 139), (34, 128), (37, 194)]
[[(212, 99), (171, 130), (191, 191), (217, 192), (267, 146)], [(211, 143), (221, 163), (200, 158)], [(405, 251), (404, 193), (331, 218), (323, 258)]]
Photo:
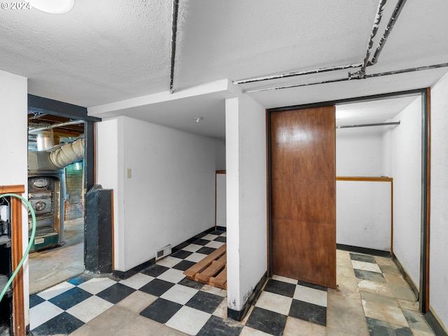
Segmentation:
[(76, 0), (51, 15), (1, 10), (0, 68), (29, 93), (93, 106), (168, 90), (171, 1)]

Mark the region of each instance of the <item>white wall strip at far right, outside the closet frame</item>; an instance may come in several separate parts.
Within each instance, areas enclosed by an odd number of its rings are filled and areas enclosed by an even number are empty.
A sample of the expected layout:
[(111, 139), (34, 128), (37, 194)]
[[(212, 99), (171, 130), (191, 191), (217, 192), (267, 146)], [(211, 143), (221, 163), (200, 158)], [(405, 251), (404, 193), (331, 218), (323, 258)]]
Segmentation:
[(448, 74), (431, 90), (430, 309), (448, 330)]

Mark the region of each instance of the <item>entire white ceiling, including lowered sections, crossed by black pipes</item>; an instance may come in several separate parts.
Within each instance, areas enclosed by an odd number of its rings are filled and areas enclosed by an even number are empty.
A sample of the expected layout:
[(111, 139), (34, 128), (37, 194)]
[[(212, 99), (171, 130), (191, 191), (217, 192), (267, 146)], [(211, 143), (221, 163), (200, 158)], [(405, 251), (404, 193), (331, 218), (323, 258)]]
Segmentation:
[[(169, 90), (172, 1), (75, 0), (69, 13), (1, 10), (0, 69), (29, 78), (29, 93), (89, 107)], [(378, 0), (179, 0), (174, 90), (228, 78), (363, 61)], [(388, 0), (374, 48), (397, 0)], [(367, 74), (448, 62), (448, 1), (409, 0)], [(352, 70), (353, 71), (353, 70)], [(356, 71), (356, 69), (354, 70)], [(433, 85), (448, 68), (250, 93), (266, 108)], [(238, 89), (347, 78), (334, 71)], [(225, 94), (114, 109), (223, 137)], [(157, 106), (157, 107), (156, 107)], [(395, 111), (396, 112), (396, 111)], [(203, 116), (194, 123), (192, 116)], [(102, 115), (108, 116), (106, 114)], [(207, 123), (206, 123), (207, 122)], [(196, 127), (196, 129), (194, 128)]]

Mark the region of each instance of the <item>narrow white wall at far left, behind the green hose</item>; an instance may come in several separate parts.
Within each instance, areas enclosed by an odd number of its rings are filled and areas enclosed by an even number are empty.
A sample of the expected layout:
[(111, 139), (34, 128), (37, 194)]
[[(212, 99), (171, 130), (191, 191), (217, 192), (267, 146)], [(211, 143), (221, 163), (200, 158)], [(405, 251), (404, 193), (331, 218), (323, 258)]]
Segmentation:
[[(27, 78), (0, 70), (0, 186), (24, 185), (28, 193)], [(28, 211), (22, 209), (23, 249), (28, 246)], [(29, 265), (23, 266), (25, 325), (29, 324)], [(3, 289), (3, 288), (1, 288)]]

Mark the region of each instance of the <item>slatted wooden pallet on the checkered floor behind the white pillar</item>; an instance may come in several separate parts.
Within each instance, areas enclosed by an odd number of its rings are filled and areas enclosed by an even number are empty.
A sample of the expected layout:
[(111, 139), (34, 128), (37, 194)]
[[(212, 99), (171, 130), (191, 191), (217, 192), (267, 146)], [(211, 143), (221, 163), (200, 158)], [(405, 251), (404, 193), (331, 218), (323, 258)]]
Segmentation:
[(197, 262), (183, 274), (187, 279), (207, 283), (210, 286), (227, 289), (227, 245), (223, 244), (216, 251)]

